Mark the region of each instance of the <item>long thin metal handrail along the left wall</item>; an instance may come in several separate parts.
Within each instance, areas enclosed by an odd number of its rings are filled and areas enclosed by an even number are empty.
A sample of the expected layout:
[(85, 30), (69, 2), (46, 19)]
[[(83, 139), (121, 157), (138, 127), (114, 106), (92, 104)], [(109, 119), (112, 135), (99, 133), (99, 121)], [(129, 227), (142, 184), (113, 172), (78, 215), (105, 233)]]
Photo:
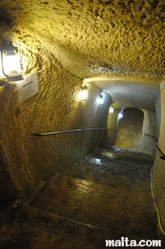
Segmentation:
[(50, 135), (57, 135), (57, 134), (64, 134), (64, 133), (73, 133), (73, 132), (80, 132), (80, 131), (93, 131), (93, 130), (111, 130), (117, 132), (113, 129), (108, 128), (79, 128), (74, 130), (65, 130), (65, 131), (53, 131), (53, 132), (45, 132), (45, 133), (31, 133), (32, 136), (50, 136)]

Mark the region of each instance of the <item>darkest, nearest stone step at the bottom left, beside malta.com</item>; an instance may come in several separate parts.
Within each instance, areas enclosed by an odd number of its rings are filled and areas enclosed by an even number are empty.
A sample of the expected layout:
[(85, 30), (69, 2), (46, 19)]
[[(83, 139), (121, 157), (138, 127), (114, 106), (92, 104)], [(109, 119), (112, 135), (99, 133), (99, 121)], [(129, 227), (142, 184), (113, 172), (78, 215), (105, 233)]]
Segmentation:
[(101, 249), (106, 239), (122, 237), (27, 205), (11, 203), (3, 211), (1, 249)]

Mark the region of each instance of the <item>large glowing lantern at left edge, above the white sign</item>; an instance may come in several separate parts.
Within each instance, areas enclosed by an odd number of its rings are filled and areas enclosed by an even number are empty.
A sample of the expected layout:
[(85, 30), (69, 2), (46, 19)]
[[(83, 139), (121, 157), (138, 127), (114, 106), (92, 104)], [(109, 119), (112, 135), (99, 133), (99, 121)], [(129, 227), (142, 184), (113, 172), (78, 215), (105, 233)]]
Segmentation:
[(3, 43), (1, 47), (2, 72), (9, 81), (22, 79), (22, 66), (18, 50), (11, 42)]

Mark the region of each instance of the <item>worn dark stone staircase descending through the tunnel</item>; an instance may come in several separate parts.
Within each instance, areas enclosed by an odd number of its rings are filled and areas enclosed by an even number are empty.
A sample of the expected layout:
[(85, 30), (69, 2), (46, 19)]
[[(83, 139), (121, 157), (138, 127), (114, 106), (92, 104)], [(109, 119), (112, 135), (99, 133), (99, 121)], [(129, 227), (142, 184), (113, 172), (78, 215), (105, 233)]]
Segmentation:
[(157, 239), (152, 164), (143, 152), (98, 149), (9, 208), (1, 230), (8, 227), (15, 247), (4, 233), (0, 248), (103, 249), (106, 239), (122, 236)]

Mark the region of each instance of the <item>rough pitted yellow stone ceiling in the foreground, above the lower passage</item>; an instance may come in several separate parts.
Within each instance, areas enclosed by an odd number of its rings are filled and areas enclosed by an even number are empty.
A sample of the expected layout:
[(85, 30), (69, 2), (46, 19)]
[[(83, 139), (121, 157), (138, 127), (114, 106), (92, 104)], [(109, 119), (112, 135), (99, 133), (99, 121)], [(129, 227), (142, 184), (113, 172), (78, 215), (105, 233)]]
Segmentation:
[(108, 91), (114, 78), (145, 89), (164, 79), (163, 0), (1, 0), (0, 20), (15, 39), (51, 53), (76, 77), (108, 78)]

